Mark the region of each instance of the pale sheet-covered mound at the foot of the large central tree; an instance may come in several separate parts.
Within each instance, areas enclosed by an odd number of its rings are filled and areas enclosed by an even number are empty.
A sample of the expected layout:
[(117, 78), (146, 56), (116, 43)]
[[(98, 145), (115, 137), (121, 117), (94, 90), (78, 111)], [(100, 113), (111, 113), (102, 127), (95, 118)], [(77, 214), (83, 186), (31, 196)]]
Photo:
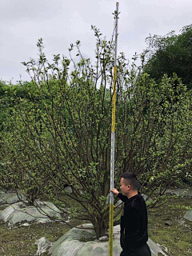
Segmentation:
[[(93, 228), (91, 224), (84, 224), (82, 227)], [(88, 241), (88, 242), (86, 242)], [(148, 245), (152, 256), (158, 253), (166, 255), (162, 249), (149, 239)], [(120, 246), (120, 226), (114, 226), (113, 255), (119, 256), (122, 248)], [(49, 253), (52, 256), (106, 256), (109, 254), (109, 241), (99, 242), (96, 239), (94, 230), (72, 228), (50, 247)]]

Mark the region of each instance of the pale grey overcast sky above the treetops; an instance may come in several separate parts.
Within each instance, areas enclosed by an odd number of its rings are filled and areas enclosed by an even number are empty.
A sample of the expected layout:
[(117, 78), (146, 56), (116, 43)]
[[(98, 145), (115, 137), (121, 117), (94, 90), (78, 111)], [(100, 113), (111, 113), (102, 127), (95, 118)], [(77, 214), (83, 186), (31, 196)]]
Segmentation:
[[(37, 42), (43, 38), (46, 57), (53, 54), (69, 58), (70, 43), (81, 41), (85, 58), (94, 60), (95, 37), (91, 25), (97, 26), (110, 40), (114, 29), (113, 0), (0, 0), (0, 79), (17, 83), (30, 81), (25, 66), (38, 58)], [(119, 0), (118, 53), (131, 59), (146, 49), (151, 34), (179, 34), (192, 23), (191, 0)]]

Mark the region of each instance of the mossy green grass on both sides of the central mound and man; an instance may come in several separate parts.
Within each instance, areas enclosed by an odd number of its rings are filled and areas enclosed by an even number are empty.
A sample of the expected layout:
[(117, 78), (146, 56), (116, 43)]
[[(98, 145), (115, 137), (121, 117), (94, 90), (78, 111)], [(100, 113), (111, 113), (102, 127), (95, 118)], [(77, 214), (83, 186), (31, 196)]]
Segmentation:
[[(186, 209), (192, 207), (189, 198), (170, 198), (159, 209), (149, 210), (149, 237), (160, 245), (166, 246), (170, 256), (192, 255), (192, 222), (183, 218)], [(71, 220), (74, 225), (82, 222)], [(33, 223), (30, 226), (17, 226), (10, 229), (7, 223), (0, 222), (0, 255), (34, 256), (37, 246), (34, 242), (46, 237), (55, 242), (69, 226), (62, 223)]]

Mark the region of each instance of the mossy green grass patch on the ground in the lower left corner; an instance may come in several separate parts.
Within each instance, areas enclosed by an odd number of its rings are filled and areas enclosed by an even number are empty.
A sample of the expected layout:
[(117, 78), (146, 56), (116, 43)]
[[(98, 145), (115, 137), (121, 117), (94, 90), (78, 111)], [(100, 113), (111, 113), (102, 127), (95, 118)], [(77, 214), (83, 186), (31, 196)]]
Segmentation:
[[(74, 222), (79, 225), (82, 222)], [(10, 229), (7, 223), (0, 222), (0, 255), (1, 256), (34, 256), (38, 247), (34, 242), (46, 237), (50, 242), (55, 242), (69, 226), (62, 223), (33, 223), (31, 226), (18, 226)]]

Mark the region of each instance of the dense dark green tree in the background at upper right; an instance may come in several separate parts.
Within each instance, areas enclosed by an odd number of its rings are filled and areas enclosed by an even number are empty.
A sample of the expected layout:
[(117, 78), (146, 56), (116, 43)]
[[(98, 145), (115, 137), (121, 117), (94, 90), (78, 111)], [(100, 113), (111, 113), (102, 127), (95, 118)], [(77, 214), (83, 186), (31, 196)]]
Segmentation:
[(148, 59), (145, 72), (151, 78), (161, 81), (163, 74), (172, 76), (175, 72), (188, 88), (192, 85), (192, 25), (184, 26), (181, 34), (171, 31), (165, 36), (146, 38)]

